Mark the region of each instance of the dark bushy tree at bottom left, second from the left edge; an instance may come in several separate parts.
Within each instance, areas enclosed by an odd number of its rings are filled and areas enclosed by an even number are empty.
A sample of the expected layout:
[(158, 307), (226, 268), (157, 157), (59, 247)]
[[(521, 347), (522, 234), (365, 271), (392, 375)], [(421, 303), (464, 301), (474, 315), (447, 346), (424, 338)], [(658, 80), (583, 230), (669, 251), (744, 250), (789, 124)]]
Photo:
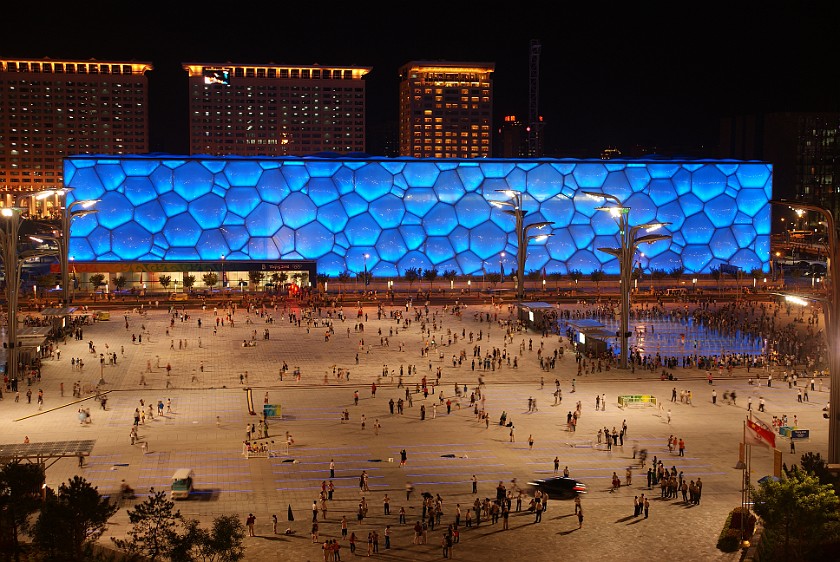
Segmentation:
[(32, 537), (50, 560), (86, 560), (85, 546), (102, 536), (117, 512), (107, 498), (81, 476), (49, 492), (32, 528)]

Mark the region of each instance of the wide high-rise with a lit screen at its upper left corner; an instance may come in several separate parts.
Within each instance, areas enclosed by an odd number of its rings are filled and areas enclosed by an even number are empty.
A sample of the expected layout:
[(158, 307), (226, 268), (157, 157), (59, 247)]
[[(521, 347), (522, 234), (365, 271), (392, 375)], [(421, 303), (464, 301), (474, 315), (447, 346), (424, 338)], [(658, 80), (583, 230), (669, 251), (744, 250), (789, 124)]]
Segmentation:
[(306, 156), (365, 151), (372, 68), (185, 63), (190, 154)]

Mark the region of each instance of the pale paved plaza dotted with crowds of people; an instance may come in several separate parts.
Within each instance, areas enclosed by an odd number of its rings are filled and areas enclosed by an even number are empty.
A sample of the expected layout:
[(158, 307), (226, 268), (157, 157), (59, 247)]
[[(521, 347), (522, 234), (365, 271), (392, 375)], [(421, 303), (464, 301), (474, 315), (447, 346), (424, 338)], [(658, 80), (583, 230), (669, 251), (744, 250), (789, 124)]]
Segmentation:
[[(341, 538), (342, 516), (347, 517), (349, 530), (359, 538), (356, 555), (367, 555), (368, 532), (377, 530), (380, 550), (374, 557), (441, 559), (442, 534), (454, 520), (456, 504), (466, 511), (476, 496), (494, 498), (499, 482), (510, 487), (514, 479), (523, 484), (552, 476), (555, 456), (560, 459), (561, 471), (568, 466), (571, 476), (588, 486), (588, 493), (582, 498), (582, 528), (578, 528), (572, 501), (550, 500), (540, 523), (534, 522), (533, 514), (522, 511), (512, 513), (509, 530), (502, 530), (501, 523), (489, 522), (462, 527), (453, 557), (487, 560), (522, 555), (535, 561), (561, 557), (578, 561), (642, 561), (651, 556), (736, 560), (737, 553), (723, 554), (715, 544), (728, 512), (740, 504), (742, 473), (735, 465), (748, 398), (752, 397), (754, 408), (759, 397), (765, 399), (766, 421), (773, 415), (786, 414), (791, 419), (796, 415), (799, 426), (811, 430), (809, 441), (797, 443), (797, 455), (790, 454), (789, 443), (779, 439), (777, 448), (783, 451), (785, 462), (798, 460), (806, 451), (825, 455), (827, 449), (822, 418), (822, 408), (828, 400), (827, 379), (819, 385), (821, 390), (810, 392), (809, 402), (799, 403), (796, 390), (785, 384), (775, 382), (772, 388), (764, 383), (749, 385), (748, 377), (761, 373), (748, 374), (746, 369), (736, 369), (732, 377), (716, 376), (713, 386), (706, 380), (706, 371), (697, 369), (674, 369), (679, 379), (676, 381), (661, 381), (658, 372), (641, 370), (578, 376), (574, 353), (565, 338), (543, 338), (526, 332), (506, 340), (505, 330), (497, 320), (511, 317), (507, 305), (469, 305), (461, 315), (453, 314), (451, 306), (446, 310), (432, 306), (425, 323), (431, 334), (425, 335), (421, 334), (421, 322), (415, 321), (413, 309), (406, 312), (404, 301), (385, 306), (381, 319), (375, 305), (366, 306), (362, 318), (357, 317), (356, 306), (345, 305), (346, 320), (335, 319), (333, 313), (335, 333), (329, 338), (325, 337), (323, 322), (328, 310), (333, 309), (323, 309), (317, 327), (314, 323), (307, 327), (305, 319), (301, 326), (291, 323), (290, 314), (300, 317), (302, 311), (284, 310), (282, 305), (276, 311), (268, 311), (272, 323), (266, 317), (238, 309), (234, 326), (229, 321), (222, 326), (220, 321), (217, 327), (216, 319), (224, 318), (224, 310), (219, 309), (216, 316), (211, 306), (206, 310), (193, 306), (186, 309), (186, 320), (175, 319), (170, 327), (173, 316), (168, 313), (168, 306), (161, 302), (156, 308), (147, 307), (143, 315), (127, 303), (125, 309), (112, 309), (109, 321), (85, 326), (81, 340), (68, 339), (66, 344), (60, 344), (60, 359), (46, 359), (42, 381), (32, 383), (34, 394), (39, 388), (44, 390), (43, 409), (39, 410), (34, 396), (31, 403), (27, 402), (25, 381), (19, 402), (14, 401), (13, 393), (4, 395), (0, 404), (4, 421), (0, 440), (22, 443), (28, 437), (35, 443), (94, 439), (96, 443), (85, 466), (79, 468), (75, 459), (56, 462), (47, 470), (48, 485), (57, 487), (81, 474), (100, 492), (110, 494), (116, 493), (124, 479), (135, 487), (140, 500), (150, 488), (168, 490), (169, 477), (176, 469), (192, 468), (197, 493), (189, 500), (179, 501), (177, 507), (185, 516), (198, 518), (205, 525), (220, 514), (238, 514), (244, 522), (253, 513), (257, 536), (245, 539), (249, 561), (323, 560), (321, 543), (326, 538)], [(403, 327), (390, 317), (392, 311), (401, 311), (404, 318), (411, 319), (411, 325)], [(486, 321), (487, 314), (490, 322)], [(484, 321), (479, 322), (479, 317)], [(363, 332), (360, 323), (364, 324)], [(264, 339), (266, 330), (269, 339)], [(139, 338), (132, 341), (132, 336), (141, 334), (142, 343)], [(436, 347), (428, 357), (421, 356), (424, 342), (432, 339)], [(95, 354), (89, 351), (91, 341)], [(256, 344), (246, 347), (243, 341)], [(475, 346), (480, 346), (482, 357), (492, 348), (504, 349), (508, 356), (516, 357), (518, 366), (508, 366), (505, 360), (501, 368), (482, 370), (477, 361), (473, 370)], [(543, 356), (552, 356), (561, 346), (565, 353), (556, 367), (541, 370), (540, 348)], [(453, 366), (453, 356), (459, 356), (462, 350), (466, 360), (460, 365), (456, 361)], [(103, 352), (116, 353), (117, 365), (106, 364), (100, 369), (99, 353)], [(71, 368), (71, 358), (82, 358), (81, 372)], [(289, 369), (281, 381), (284, 363)], [(147, 372), (147, 365), (151, 365), (151, 372)], [(171, 366), (168, 375), (166, 365)], [(410, 365), (416, 366), (417, 374), (408, 374)], [(349, 381), (346, 377), (339, 380), (333, 374), (334, 367), (336, 373), (339, 369), (349, 370)], [(401, 368), (413, 405), (406, 403), (403, 415), (391, 414), (389, 400), (405, 399), (405, 388), (398, 387)], [(434, 381), (438, 368), (441, 384), (424, 399), (415, 389), (423, 377)], [(300, 380), (294, 376), (296, 369), (300, 370)], [(380, 377), (383, 369), (387, 369), (388, 376)], [(96, 385), (100, 375), (106, 381), (102, 386), (107, 393), (106, 410), (93, 394), (72, 396), (74, 382), (79, 381), (87, 390)], [(469, 394), (478, 386), (480, 377), (484, 381), (482, 400), (489, 412), (489, 427), (477, 420), (469, 407)], [(559, 405), (554, 403), (555, 379), (562, 390)], [(375, 396), (371, 389), (374, 382)], [(463, 389), (464, 385), (468, 387), (466, 395), (457, 397), (455, 387)], [(269, 419), (267, 442), (274, 452), (270, 458), (243, 456), (246, 424), (259, 422), (259, 416), (249, 413), (246, 388), (252, 389), (258, 413), (266, 398), (270, 404), (280, 405), (282, 418)], [(671, 402), (674, 388), (690, 390), (692, 403)], [(714, 405), (713, 389), (717, 391)], [(359, 393), (358, 405), (354, 404), (355, 391)], [(452, 401), (451, 412), (438, 399), (441, 391), (444, 400)], [(726, 391), (736, 391), (737, 405), (723, 400)], [(617, 398), (622, 394), (652, 394), (660, 407), (620, 409)], [(606, 397), (603, 411), (595, 409), (599, 395)], [(536, 411), (528, 411), (529, 399), (536, 400)], [(140, 424), (139, 443), (132, 445), (129, 434), (141, 400), (147, 412), (149, 404), (155, 406), (155, 415)], [(158, 415), (158, 401), (170, 404), (171, 411), (165, 407), (163, 415)], [(578, 401), (582, 415), (577, 430), (569, 432), (567, 415)], [(421, 406), (425, 406), (424, 420)], [(80, 423), (80, 408), (89, 408), (90, 424)], [(348, 421), (341, 419), (345, 409), (349, 412)], [(513, 442), (510, 429), (498, 425), (503, 411), (514, 424)], [(362, 415), (366, 418), (364, 429)], [(628, 426), (624, 446), (612, 451), (599, 447), (598, 429), (620, 428), (624, 420)], [(378, 429), (377, 424), (381, 426)], [(294, 439), (289, 450), (285, 444), (287, 432)], [(668, 452), (670, 435), (685, 440), (684, 457)], [(533, 436), (533, 447), (529, 447), (529, 436)], [(645, 473), (632, 458), (634, 448), (647, 449), (649, 461), (656, 455), (664, 459), (666, 467), (676, 466), (686, 479), (702, 478), (700, 504), (660, 499), (658, 488), (648, 490)], [(407, 463), (400, 467), (403, 449)], [(328, 502), (326, 520), (318, 514), (320, 542), (313, 544), (311, 506), (318, 498), (321, 483), (330, 480), (331, 459), (335, 462), (334, 499)], [(624, 484), (625, 470), (631, 465), (636, 466), (632, 483), (611, 491), (613, 472)], [(752, 469), (753, 482), (771, 474), (772, 453), (755, 447)], [(359, 478), (363, 471), (369, 476), (370, 490), (361, 493)], [(478, 479), (477, 495), (471, 492), (472, 475)], [(406, 500), (407, 483), (414, 487), (410, 500)], [(423, 492), (443, 498), (442, 527), (429, 532), (427, 544), (414, 545), (413, 524), (420, 516)], [(383, 513), (386, 494), (391, 498), (390, 515)], [(633, 498), (640, 494), (650, 497), (647, 519), (633, 517)], [(356, 513), (361, 496), (367, 500), (369, 512), (359, 523)], [(112, 536), (124, 536), (128, 528), (126, 510), (140, 500), (124, 504), (112, 519), (103, 542), (110, 543)], [(293, 522), (287, 519), (289, 506), (294, 513)], [(400, 507), (407, 514), (405, 525), (398, 522)], [(276, 535), (272, 514), (279, 519)], [(390, 550), (384, 549), (382, 538), (386, 525), (392, 529)], [(287, 528), (294, 534), (283, 534)], [(354, 559), (347, 541), (342, 540), (341, 545), (342, 559)]]

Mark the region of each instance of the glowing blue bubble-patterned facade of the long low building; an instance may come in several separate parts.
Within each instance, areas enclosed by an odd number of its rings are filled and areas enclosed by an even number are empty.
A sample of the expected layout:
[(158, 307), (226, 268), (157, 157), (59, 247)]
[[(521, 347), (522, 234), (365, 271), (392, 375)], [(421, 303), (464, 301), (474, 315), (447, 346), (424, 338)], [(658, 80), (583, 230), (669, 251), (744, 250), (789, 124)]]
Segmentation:
[[(388, 158), (65, 158), (77, 261), (316, 260), (336, 275), (459, 274), (515, 268), (513, 217), (491, 201), (521, 191), (525, 223), (552, 221), (526, 271), (618, 273), (615, 221), (583, 191), (630, 207), (630, 224), (671, 223), (644, 247), (647, 269), (768, 271), (772, 166), (731, 160), (417, 160)], [(542, 231), (541, 231), (542, 232)], [(505, 257), (501, 258), (501, 253)], [(365, 254), (368, 255), (365, 258)]]

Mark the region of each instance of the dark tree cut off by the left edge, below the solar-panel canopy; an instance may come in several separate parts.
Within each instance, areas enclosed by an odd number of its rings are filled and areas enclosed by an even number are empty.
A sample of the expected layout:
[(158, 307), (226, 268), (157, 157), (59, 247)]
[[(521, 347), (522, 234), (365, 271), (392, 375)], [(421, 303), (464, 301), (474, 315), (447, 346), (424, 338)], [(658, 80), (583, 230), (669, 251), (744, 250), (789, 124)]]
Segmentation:
[(30, 516), (41, 507), (44, 471), (37, 464), (18, 461), (0, 469), (0, 535), (10, 536), (17, 554), (19, 534), (29, 528)]

